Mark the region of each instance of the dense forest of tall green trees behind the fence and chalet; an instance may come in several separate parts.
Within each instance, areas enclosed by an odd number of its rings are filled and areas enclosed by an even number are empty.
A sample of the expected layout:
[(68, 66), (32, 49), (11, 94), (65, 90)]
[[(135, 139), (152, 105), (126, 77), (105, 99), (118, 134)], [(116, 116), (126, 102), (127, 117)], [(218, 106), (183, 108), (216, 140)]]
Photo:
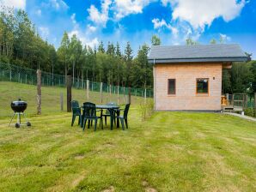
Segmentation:
[[(25, 11), (0, 10), (0, 62), (112, 85), (153, 87), (153, 66), (147, 61), (149, 45), (141, 45), (137, 52), (131, 49), (130, 42), (127, 42), (125, 49), (120, 48), (119, 42), (104, 45), (102, 41), (90, 47), (82, 45), (76, 35), (69, 37), (64, 32), (56, 49), (40, 37)], [(151, 43), (161, 45), (161, 39), (153, 35)], [(185, 43), (198, 44), (190, 38)], [(210, 43), (225, 42), (211, 39)], [(234, 63), (232, 69), (223, 70), (222, 93), (253, 95), (255, 92), (256, 61)]]

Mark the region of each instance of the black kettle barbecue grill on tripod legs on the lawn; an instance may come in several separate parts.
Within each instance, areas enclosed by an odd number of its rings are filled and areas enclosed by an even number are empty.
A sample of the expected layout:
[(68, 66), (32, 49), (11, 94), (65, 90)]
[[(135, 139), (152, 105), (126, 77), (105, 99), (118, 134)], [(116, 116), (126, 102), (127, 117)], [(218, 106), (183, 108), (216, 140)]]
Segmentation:
[[(31, 123), (27, 121), (27, 118), (25, 117), (25, 113), (24, 113), (24, 111), (27, 109), (27, 102), (22, 101), (21, 99), (18, 99), (16, 101), (11, 102), (10, 107), (14, 111), (14, 114), (11, 117), (9, 126), (10, 126), (10, 123), (12, 123), (12, 120), (15, 117), (15, 115), (17, 116), (17, 123), (15, 123), (15, 128), (20, 128), (21, 125), (27, 125), (27, 127), (31, 126)], [(27, 123), (21, 123), (21, 115), (25, 118)]]

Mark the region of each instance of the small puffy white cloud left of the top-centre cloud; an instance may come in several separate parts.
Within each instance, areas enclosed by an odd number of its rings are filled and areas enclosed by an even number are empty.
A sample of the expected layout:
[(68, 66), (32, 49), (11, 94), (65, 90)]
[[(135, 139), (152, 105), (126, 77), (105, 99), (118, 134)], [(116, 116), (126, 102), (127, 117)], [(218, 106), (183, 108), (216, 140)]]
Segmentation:
[(91, 5), (88, 9), (89, 20), (94, 21), (96, 24), (102, 24), (103, 27), (106, 27), (106, 23), (108, 21), (108, 11), (111, 3), (111, 0), (101, 0), (101, 11), (95, 8), (94, 5)]

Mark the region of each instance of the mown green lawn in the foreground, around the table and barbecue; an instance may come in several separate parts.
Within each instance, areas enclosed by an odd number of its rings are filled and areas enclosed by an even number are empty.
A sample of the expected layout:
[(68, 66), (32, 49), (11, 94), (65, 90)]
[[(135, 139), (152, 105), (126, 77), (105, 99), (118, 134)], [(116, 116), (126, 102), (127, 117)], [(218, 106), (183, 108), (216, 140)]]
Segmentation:
[(155, 112), (130, 129), (70, 127), (70, 114), (0, 119), (0, 191), (256, 191), (256, 123)]

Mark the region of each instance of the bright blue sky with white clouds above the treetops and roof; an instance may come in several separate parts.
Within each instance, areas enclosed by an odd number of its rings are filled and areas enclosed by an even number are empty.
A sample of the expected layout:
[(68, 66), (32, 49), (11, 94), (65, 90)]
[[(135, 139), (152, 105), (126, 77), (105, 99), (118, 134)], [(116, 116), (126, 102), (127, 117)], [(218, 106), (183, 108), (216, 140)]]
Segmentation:
[(103, 41), (133, 54), (151, 45), (156, 34), (162, 45), (185, 45), (188, 37), (209, 44), (222, 37), (238, 43), (256, 59), (256, 0), (0, 0), (24, 9), (43, 39), (56, 48), (64, 31), (76, 34), (83, 45)]

